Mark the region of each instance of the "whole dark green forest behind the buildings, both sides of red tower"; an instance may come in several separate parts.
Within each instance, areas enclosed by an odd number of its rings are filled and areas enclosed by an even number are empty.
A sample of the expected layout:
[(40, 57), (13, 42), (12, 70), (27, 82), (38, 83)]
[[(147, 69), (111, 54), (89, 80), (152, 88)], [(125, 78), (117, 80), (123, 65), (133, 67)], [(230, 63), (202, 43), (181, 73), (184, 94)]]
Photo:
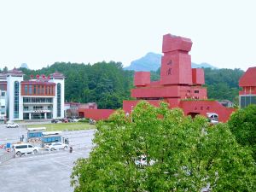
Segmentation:
[[(6, 71), (7, 67), (3, 68)], [(39, 70), (20, 68), (25, 79), (37, 74), (63, 73), (66, 102), (96, 102), (98, 108), (121, 108), (122, 101), (131, 99), (134, 71), (124, 70), (120, 62), (97, 62), (79, 64), (55, 62)], [(205, 68), (205, 79), (209, 99), (230, 100), (238, 104), (238, 81), (244, 73), (241, 69)], [(151, 79), (160, 79), (160, 68), (151, 72)]]

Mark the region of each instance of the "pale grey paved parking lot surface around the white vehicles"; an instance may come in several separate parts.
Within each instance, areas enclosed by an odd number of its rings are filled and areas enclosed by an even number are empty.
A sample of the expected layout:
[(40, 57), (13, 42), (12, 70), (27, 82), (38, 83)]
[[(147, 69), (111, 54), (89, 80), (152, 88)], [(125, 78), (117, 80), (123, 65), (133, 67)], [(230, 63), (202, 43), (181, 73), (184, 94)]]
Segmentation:
[[(69, 138), (73, 153), (41, 149), (38, 154), (16, 156), (1, 163), (0, 192), (73, 191), (70, 186), (73, 162), (89, 156), (94, 133), (95, 130), (63, 131), (62, 136)], [(18, 142), (22, 134), (26, 137), (26, 124), (20, 124), (20, 128), (6, 128), (1, 124), (0, 144)]]

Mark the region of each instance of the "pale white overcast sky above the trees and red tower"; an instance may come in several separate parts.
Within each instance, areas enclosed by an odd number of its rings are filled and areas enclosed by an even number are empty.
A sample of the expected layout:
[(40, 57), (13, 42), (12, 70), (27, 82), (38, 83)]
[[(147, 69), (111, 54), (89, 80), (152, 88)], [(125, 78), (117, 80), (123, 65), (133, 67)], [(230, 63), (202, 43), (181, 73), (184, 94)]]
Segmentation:
[(0, 0), (0, 68), (121, 61), (190, 38), (195, 63), (256, 67), (254, 0)]

